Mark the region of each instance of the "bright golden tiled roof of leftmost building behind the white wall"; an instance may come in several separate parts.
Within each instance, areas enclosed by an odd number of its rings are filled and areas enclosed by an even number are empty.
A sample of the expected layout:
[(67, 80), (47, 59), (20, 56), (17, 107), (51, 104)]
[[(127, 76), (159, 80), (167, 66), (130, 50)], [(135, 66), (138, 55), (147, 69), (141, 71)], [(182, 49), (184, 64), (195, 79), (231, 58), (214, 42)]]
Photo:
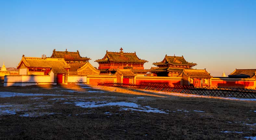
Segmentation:
[(34, 68), (70, 68), (63, 58), (24, 57), (23, 55), (17, 69), (22, 63), (26, 67)]

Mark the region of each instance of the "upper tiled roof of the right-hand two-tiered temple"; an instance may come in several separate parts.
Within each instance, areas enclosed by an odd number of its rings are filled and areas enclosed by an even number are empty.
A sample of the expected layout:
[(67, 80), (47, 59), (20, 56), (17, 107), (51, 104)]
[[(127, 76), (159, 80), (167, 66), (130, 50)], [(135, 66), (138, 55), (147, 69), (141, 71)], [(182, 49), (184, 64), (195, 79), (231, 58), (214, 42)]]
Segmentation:
[(172, 64), (172, 65), (189, 65), (192, 67), (197, 65), (196, 63), (187, 62), (183, 56), (176, 57), (176, 56), (167, 56), (167, 55), (165, 55), (164, 59), (161, 62), (153, 63), (153, 65), (155, 65), (155, 66), (167, 65), (168, 63)]

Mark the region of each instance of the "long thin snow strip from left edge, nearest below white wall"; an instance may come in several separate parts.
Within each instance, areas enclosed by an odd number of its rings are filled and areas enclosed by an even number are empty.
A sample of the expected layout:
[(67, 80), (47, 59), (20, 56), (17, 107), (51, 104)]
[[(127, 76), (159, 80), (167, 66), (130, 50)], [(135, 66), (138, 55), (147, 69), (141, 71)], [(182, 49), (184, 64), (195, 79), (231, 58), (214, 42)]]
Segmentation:
[(15, 97), (15, 96), (70, 96), (70, 95), (0, 92), (0, 98)]

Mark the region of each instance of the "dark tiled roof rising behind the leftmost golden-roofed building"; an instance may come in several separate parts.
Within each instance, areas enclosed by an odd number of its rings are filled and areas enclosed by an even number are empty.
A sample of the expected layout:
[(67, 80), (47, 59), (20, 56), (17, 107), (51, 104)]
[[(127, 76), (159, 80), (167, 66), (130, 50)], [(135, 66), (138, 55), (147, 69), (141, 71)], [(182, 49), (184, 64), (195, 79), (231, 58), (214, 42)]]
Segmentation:
[(81, 57), (78, 50), (77, 52), (68, 52), (67, 49), (66, 51), (56, 51), (54, 49), (52, 56), (50, 58), (64, 58), (65, 61), (73, 61), (73, 62), (75, 61), (85, 62), (85, 61), (91, 60), (90, 58), (87, 58), (87, 57)]

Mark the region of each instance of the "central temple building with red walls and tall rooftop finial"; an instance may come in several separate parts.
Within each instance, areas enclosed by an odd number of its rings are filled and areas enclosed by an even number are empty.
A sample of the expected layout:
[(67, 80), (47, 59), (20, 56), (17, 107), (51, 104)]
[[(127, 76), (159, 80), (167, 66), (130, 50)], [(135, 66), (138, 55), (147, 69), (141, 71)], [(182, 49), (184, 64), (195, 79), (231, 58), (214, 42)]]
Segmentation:
[(144, 70), (144, 63), (148, 62), (137, 57), (136, 52), (124, 53), (123, 49), (120, 52), (108, 52), (102, 59), (98, 59), (100, 74), (114, 74), (118, 69), (131, 69), (134, 74), (146, 74), (148, 70)]

